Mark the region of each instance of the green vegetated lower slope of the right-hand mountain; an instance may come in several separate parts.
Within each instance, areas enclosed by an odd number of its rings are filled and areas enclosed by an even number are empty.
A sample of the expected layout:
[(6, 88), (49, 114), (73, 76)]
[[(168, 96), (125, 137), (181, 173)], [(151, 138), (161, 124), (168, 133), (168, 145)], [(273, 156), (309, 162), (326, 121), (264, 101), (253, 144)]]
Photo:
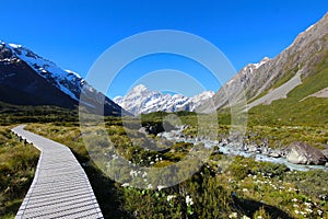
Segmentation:
[(251, 125), (327, 126), (328, 99), (308, 97), (328, 87), (328, 53), (323, 62), (286, 99), (249, 111)]

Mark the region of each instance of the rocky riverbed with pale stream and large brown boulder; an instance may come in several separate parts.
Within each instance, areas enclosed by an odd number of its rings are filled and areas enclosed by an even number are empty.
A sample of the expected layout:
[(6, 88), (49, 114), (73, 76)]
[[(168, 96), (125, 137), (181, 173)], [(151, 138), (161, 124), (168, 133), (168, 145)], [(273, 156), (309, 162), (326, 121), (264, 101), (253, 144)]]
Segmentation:
[(203, 143), (207, 148), (219, 147), (219, 151), (224, 154), (253, 157), (257, 161), (268, 161), (282, 163), (291, 170), (307, 171), (321, 169), (328, 171), (328, 159), (325, 150), (320, 151), (304, 142), (293, 142), (283, 149), (271, 149), (268, 146), (235, 143), (229, 139), (209, 140), (191, 138), (183, 134), (184, 127), (159, 134), (159, 136), (172, 141), (192, 142), (194, 145)]

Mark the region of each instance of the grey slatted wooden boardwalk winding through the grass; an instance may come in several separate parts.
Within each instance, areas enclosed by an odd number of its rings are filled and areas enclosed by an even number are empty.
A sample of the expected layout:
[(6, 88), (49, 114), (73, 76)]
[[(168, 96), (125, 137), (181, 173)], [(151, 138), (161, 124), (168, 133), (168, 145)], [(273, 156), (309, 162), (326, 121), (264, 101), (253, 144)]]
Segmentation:
[(23, 128), (12, 131), (42, 153), (15, 218), (103, 218), (87, 176), (71, 150)]

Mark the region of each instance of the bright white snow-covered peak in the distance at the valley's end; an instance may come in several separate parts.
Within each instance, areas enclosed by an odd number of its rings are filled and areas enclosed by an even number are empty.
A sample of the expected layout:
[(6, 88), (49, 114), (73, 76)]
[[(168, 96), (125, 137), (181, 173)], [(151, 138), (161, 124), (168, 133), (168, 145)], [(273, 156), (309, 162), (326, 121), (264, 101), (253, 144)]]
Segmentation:
[(125, 96), (117, 96), (114, 102), (134, 115), (152, 112), (194, 112), (214, 95), (213, 91), (204, 91), (196, 96), (188, 97), (180, 94), (163, 94), (151, 91), (145, 85), (139, 84)]

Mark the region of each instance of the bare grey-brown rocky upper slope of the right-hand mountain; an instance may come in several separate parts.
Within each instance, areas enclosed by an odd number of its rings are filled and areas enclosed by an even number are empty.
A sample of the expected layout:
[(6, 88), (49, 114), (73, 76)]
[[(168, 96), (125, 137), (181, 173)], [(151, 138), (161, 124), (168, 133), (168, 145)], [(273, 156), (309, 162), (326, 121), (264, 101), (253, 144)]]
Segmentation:
[[(218, 108), (224, 108), (229, 104), (229, 96), (235, 101), (241, 100), (243, 91), (236, 89), (241, 88), (237, 84), (242, 84), (247, 102), (250, 103), (249, 108), (286, 97), (288, 93), (300, 85), (302, 81), (319, 72), (318, 68), (325, 65), (327, 54), (328, 13), (301, 33), (286, 49), (273, 59), (265, 58), (259, 64), (250, 64), (243, 68), (215, 93), (213, 97), (215, 104)], [(300, 83), (290, 82), (283, 89), (272, 93), (273, 90), (289, 82), (296, 74), (300, 76)], [(325, 89), (325, 87), (320, 89)], [(266, 97), (258, 101), (263, 96)], [(251, 104), (256, 100), (257, 102)]]

